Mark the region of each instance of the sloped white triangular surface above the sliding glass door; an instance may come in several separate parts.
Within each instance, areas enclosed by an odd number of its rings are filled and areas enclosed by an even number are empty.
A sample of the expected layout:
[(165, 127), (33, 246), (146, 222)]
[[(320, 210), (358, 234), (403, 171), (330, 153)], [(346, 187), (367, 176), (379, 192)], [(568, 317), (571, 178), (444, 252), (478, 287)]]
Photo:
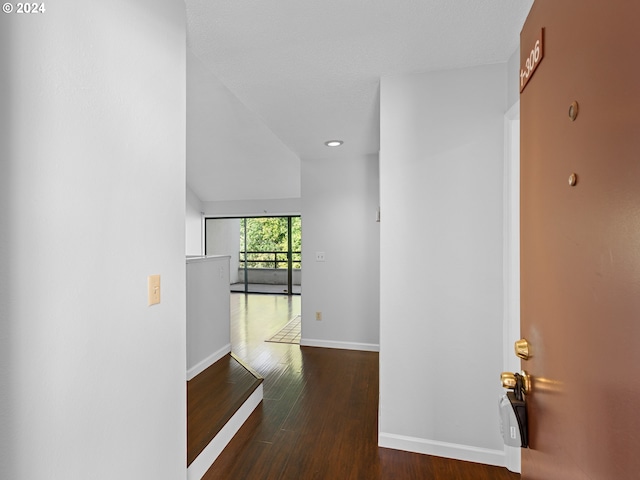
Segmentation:
[(300, 197), (298, 156), (190, 48), (187, 159), (189, 186), (202, 201)]

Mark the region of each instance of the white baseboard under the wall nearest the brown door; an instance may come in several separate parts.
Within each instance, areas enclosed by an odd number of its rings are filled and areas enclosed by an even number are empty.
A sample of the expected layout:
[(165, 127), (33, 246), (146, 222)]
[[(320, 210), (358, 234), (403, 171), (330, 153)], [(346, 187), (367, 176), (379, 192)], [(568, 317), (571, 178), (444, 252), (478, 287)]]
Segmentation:
[(404, 450), (407, 452), (423, 453), (436, 457), (464, 460), (466, 462), (484, 463), (497, 467), (505, 466), (504, 450), (490, 450), (488, 448), (470, 447), (456, 443), (438, 442), (424, 438), (405, 437), (392, 433), (378, 434), (378, 446)]

